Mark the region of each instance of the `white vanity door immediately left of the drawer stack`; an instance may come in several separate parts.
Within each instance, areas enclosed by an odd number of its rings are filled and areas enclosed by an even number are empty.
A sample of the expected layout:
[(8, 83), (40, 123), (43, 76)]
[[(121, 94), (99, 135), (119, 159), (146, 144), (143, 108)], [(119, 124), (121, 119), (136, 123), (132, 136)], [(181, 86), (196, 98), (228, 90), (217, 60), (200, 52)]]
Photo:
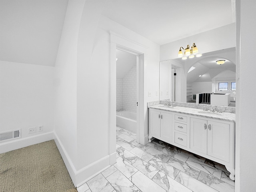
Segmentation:
[(161, 112), (160, 138), (165, 142), (172, 142), (172, 114)]

